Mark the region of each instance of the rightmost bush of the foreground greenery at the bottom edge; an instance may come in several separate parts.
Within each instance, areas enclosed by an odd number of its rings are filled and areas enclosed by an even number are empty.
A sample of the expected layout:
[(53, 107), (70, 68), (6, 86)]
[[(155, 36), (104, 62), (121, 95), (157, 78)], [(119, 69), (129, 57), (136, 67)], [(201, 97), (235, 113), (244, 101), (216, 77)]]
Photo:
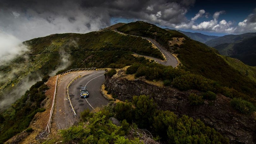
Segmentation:
[(174, 126), (168, 126), (169, 143), (223, 143), (228, 144), (229, 139), (220, 135), (215, 129), (207, 127), (199, 119), (183, 115)]

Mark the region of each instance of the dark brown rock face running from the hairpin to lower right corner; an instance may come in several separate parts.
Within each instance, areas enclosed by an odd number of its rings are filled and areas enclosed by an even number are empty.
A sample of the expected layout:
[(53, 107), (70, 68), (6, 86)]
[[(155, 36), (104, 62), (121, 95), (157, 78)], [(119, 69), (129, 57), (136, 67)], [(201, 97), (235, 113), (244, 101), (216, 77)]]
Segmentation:
[(131, 101), (134, 95), (149, 95), (159, 109), (173, 111), (178, 116), (187, 115), (200, 119), (228, 137), (230, 143), (256, 143), (255, 118), (237, 113), (229, 105), (231, 99), (221, 94), (217, 94), (216, 100), (205, 100), (203, 105), (191, 106), (188, 101), (189, 94), (200, 92), (181, 92), (174, 88), (151, 85), (141, 79), (128, 81), (121, 76), (106, 77), (105, 85), (122, 101)]

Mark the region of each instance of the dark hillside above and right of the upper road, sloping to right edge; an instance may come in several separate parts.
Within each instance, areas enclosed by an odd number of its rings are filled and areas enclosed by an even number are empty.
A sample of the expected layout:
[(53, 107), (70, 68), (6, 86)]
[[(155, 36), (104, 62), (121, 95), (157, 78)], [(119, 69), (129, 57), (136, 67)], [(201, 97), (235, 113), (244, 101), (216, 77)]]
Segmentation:
[[(239, 70), (230, 66), (215, 49), (189, 39), (177, 31), (166, 31), (141, 21), (126, 24), (118, 30), (133, 35), (156, 37), (157, 42), (164, 45), (170, 52), (178, 54), (182, 63), (181, 69), (216, 81), (218, 85), (234, 88), (239, 93), (245, 94), (245, 99), (255, 103), (256, 83), (249, 76), (241, 75)], [(184, 39), (180, 45), (172, 47), (169, 42), (174, 37)]]

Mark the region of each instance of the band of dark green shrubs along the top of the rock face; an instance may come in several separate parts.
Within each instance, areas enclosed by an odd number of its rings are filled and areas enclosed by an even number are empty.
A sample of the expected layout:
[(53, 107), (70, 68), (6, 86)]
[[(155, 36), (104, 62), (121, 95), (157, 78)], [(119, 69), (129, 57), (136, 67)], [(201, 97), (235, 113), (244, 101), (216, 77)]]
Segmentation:
[[(195, 89), (203, 92), (202, 95), (191, 94), (189, 100), (192, 105), (201, 105), (204, 103), (204, 99), (215, 100), (216, 93), (229, 98), (243, 99), (244, 103), (236, 103), (241, 107), (248, 109), (248, 111), (236, 110), (244, 114), (251, 114), (255, 111), (255, 104), (250, 102), (252, 99), (244, 93), (241, 93), (234, 88), (225, 87), (216, 81), (210, 80), (202, 75), (192, 74), (191, 72), (184, 71), (183, 69), (174, 69), (171, 66), (163, 66), (158, 63), (146, 63), (146, 64), (134, 64), (126, 69), (126, 74), (134, 74), (135, 77), (145, 76), (146, 80), (150, 81), (163, 81), (164, 86), (174, 87), (180, 91), (186, 91)], [(245, 105), (251, 104), (251, 105)], [(231, 101), (232, 105), (232, 101)]]

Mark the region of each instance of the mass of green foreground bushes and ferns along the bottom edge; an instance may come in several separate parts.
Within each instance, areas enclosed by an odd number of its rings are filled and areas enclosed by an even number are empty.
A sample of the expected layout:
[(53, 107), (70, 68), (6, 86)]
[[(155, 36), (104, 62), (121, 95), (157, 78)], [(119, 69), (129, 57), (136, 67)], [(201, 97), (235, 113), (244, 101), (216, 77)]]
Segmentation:
[[(120, 125), (113, 124), (111, 117)], [(44, 143), (229, 143), (199, 119), (158, 110), (153, 99), (145, 95), (134, 96), (132, 102), (112, 103), (99, 112), (85, 110), (81, 119), (79, 124), (61, 130), (60, 139)]]

